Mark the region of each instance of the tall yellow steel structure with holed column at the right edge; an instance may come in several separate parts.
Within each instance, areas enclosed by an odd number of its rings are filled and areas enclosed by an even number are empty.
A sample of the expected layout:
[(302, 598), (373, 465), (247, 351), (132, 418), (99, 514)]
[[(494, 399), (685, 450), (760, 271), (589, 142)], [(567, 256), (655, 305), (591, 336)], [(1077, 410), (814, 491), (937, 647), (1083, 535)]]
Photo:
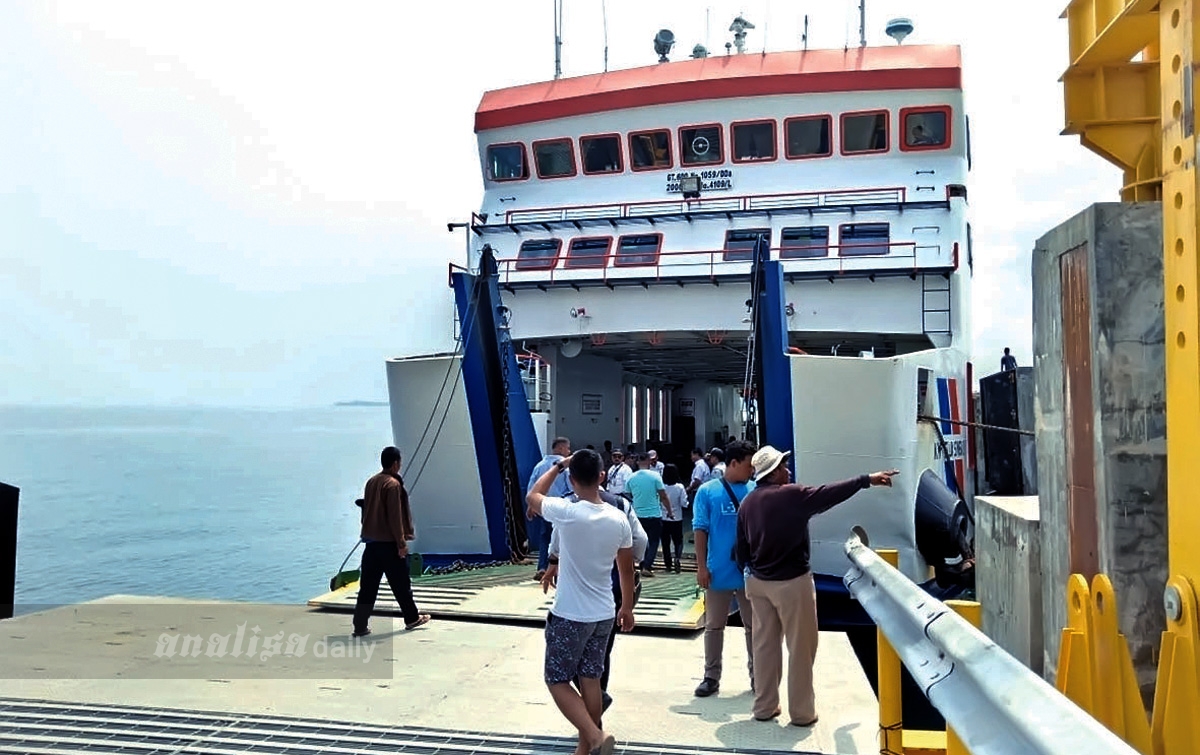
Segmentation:
[[(1090, 598), (1088, 611), (1072, 615), (1063, 631), (1060, 684), (1144, 753), (1200, 751), (1200, 248), (1196, 170), (1196, 29), (1200, 0), (1073, 0), (1063, 16), (1070, 35), (1070, 66), (1063, 74), (1066, 133), (1124, 169), (1126, 200), (1163, 200), (1163, 277), (1166, 331), (1168, 553), (1171, 577), (1154, 688), (1148, 750), (1134, 701), (1121, 684), (1111, 695), (1114, 663), (1123, 669), (1128, 648), (1109, 625), (1097, 623), (1097, 601), (1109, 601), (1102, 621), (1115, 627), (1108, 580), (1072, 576), (1068, 600)], [(1138, 58), (1138, 60), (1134, 60)], [(1152, 73), (1153, 71), (1153, 73)], [(1156, 80), (1157, 79), (1157, 84)], [(1157, 106), (1151, 102), (1157, 92)], [(1153, 116), (1153, 122), (1150, 119)], [(1154, 149), (1157, 146), (1157, 149)], [(1082, 583), (1081, 583), (1082, 582)], [(1073, 603), (1070, 604), (1073, 607)], [(1123, 675), (1123, 671), (1121, 671)], [(1111, 695), (1102, 700), (1104, 691)], [(1136, 701), (1141, 709), (1140, 699)], [(1120, 709), (1118, 709), (1120, 708)], [(1122, 730), (1118, 730), (1123, 727)], [(1129, 737), (1136, 737), (1129, 739)]]

